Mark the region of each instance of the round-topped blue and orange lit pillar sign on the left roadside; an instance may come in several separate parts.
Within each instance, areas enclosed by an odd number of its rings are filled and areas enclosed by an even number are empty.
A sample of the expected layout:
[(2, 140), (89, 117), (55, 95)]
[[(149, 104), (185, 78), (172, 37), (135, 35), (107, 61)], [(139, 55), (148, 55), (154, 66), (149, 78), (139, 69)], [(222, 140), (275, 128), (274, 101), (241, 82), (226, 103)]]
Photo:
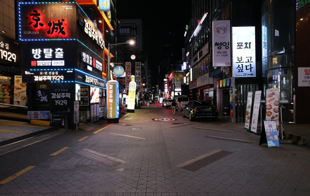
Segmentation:
[[(119, 118), (119, 84), (117, 81), (107, 82), (107, 117)], [(96, 109), (97, 110), (97, 109)]]

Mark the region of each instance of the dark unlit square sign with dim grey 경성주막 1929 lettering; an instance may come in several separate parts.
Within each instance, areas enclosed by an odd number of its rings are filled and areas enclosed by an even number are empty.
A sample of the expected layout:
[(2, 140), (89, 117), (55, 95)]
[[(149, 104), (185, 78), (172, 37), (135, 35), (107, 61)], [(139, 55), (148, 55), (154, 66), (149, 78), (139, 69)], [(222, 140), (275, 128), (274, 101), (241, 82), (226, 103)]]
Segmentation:
[(53, 112), (73, 112), (74, 83), (50, 83), (50, 109)]

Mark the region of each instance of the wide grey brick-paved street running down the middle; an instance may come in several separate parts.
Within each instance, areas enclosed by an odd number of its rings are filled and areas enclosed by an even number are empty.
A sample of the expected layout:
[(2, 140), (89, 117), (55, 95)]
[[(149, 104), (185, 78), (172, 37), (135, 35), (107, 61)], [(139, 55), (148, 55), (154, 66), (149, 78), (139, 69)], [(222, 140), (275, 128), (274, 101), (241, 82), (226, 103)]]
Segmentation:
[[(281, 144), (280, 148), (259, 146), (260, 136), (221, 119), (217, 122), (189, 122), (187, 118), (175, 115), (176, 122), (191, 124), (170, 127), (171, 122), (140, 123), (141, 119), (150, 121), (154, 116), (172, 117), (171, 110), (149, 107), (120, 119), (120, 123), (132, 126), (111, 125), (0, 185), (0, 196), (310, 195), (308, 149), (290, 144)], [(131, 140), (107, 133), (145, 140)], [(85, 148), (126, 163), (107, 166), (76, 153)], [(176, 167), (216, 150), (232, 154), (194, 172)]]

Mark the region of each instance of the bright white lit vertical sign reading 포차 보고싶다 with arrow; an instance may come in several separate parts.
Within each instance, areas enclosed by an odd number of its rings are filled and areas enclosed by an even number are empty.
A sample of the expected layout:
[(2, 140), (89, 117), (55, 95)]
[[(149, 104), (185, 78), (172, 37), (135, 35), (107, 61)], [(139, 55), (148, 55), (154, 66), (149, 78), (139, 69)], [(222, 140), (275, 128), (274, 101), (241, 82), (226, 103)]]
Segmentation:
[(233, 27), (233, 77), (256, 77), (255, 27)]

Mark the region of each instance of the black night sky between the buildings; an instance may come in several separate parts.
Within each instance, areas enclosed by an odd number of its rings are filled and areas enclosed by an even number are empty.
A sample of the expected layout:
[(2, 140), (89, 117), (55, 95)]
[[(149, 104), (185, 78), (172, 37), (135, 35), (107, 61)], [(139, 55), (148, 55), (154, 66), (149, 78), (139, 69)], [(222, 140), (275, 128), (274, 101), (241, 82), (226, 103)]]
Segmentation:
[[(190, 0), (116, 0), (117, 19), (142, 19), (143, 50), (148, 54), (152, 70), (152, 86), (157, 85), (157, 65), (160, 62), (160, 37), (168, 28), (175, 33), (174, 53), (182, 60), (185, 48), (185, 27), (191, 17)], [(155, 79), (155, 80), (154, 80)]]

